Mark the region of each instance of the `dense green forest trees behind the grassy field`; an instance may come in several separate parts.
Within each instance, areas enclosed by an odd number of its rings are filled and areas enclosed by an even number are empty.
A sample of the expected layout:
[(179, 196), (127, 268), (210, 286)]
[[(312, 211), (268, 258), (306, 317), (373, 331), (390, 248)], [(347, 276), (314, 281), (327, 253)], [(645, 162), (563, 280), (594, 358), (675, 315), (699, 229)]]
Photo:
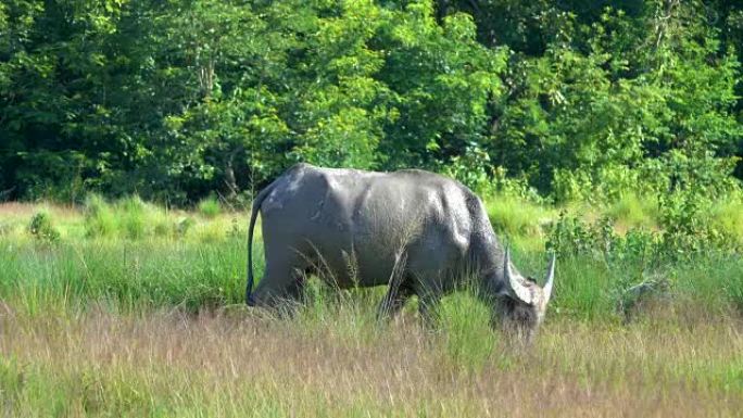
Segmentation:
[(731, 0), (2, 0), (0, 200), (235, 198), (298, 161), (713, 197), (742, 59)]

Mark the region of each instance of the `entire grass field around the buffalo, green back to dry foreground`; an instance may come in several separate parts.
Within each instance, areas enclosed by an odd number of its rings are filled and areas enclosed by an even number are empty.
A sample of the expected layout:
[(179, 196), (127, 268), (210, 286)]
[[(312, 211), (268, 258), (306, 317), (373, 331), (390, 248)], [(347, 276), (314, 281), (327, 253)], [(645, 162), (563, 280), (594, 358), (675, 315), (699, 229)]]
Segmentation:
[[(555, 210), (489, 201), (515, 262), (541, 277)], [(0, 205), (4, 416), (740, 416), (743, 258), (558, 261), (532, 346), (505, 340), (468, 292), (436, 329), (414, 303), (375, 321), (383, 289), (313, 282), (291, 318), (242, 305), (247, 215), (127, 199)], [(627, 208), (627, 207), (629, 208)], [(632, 202), (620, 226), (653, 227)], [(733, 212), (725, 219), (734, 224)], [(56, 238), (29, 232), (46, 213)], [(526, 214), (526, 215), (524, 215)], [(630, 215), (622, 215), (630, 214)], [(595, 216), (589, 213), (587, 216)], [(730, 220), (733, 219), (733, 220)], [(38, 224), (38, 223), (37, 223)], [(40, 225), (40, 224), (39, 224)], [(260, 236), (256, 239), (260, 242)], [(262, 270), (261, 248), (256, 270)], [(646, 279), (668, 289), (622, 305)], [(622, 307), (625, 308), (622, 311)]]

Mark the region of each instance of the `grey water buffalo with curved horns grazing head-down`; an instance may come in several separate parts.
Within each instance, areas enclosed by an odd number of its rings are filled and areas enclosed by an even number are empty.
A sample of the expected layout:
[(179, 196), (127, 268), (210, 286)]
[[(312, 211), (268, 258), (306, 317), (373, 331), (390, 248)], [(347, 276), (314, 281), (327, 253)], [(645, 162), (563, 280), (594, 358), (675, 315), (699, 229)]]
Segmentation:
[[(253, 292), (259, 212), (266, 268)], [(295, 299), (314, 273), (339, 288), (389, 284), (382, 314), (394, 315), (415, 294), (427, 317), (442, 294), (466, 281), (508, 329), (529, 334), (544, 318), (555, 267), (553, 255), (543, 288), (521, 276), (480, 199), (455, 180), (419, 169), (298, 164), (255, 198), (248, 252), (249, 305)]]

